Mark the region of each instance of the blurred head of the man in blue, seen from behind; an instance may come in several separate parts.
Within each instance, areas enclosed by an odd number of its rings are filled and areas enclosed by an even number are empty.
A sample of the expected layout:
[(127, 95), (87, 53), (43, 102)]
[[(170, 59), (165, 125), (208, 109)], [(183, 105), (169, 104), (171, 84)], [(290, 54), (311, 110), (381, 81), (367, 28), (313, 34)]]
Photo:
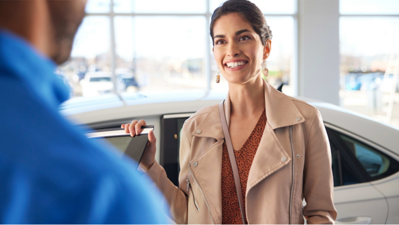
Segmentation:
[(0, 0), (0, 28), (27, 39), (57, 64), (68, 60), (87, 0)]

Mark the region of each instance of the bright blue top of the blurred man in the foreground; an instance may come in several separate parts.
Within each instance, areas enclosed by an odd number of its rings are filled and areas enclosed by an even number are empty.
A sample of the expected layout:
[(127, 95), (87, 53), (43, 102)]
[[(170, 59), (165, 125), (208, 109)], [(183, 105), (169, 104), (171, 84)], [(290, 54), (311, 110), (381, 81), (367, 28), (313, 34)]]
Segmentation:
[(69, 89), (55, 69), (0, 30), (0, 223), (168, 223), (163, 197), (137, 164), (60, 115)]

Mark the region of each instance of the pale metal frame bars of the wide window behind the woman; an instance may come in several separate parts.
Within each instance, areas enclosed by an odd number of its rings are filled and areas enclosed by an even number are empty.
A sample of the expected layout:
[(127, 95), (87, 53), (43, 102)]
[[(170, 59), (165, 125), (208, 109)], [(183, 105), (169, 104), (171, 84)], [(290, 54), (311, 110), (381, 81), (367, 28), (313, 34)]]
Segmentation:
[[(110, 9), (109, 12), (105, 13), (86, 13), (86, 16), (108, 16), (110, 18), (110, 50), (111, 50), (111, 72), (112, 72), (112, 82), (114, 83), (113, 91), (117, 93), (116, 90), (116, 51), (115, 51), (115, 30), (114, 30), (114, 17), (115, 16), (205, 16), (205, 55), (204, 55), (204, 68), (203, 71), (205, 73), (206, 79), (206, 90), (205, 93), (208, 93), (211, 89), (211, 52), (210, 52), (210, 36), (207, 32), (208, 24), (210, 23), (210, 17), (212, 16), (212, 12), (209, 11), (210, 0), (205, 0), (206, 12), (204, 13), (115, 13), (114, 12), (114, 0), (110, 0)], [(294, 95), (298, 95), (298, 0), (294, 0), (294, 13), (282, 13), (282, 14), (263, 14), (264, 16), (291, 16), (294, 19), (294, 49), (292, 52), (292, 61), (290, 62), (290, 86), (293, 88)]]

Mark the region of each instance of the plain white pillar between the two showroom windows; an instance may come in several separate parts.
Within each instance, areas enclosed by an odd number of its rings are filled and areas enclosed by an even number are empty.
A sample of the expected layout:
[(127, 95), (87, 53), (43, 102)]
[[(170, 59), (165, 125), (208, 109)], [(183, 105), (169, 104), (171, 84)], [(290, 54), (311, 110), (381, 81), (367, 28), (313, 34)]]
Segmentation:
[(339, 57), (339, 0), (299, 0), (299, 96), (339, 105)]

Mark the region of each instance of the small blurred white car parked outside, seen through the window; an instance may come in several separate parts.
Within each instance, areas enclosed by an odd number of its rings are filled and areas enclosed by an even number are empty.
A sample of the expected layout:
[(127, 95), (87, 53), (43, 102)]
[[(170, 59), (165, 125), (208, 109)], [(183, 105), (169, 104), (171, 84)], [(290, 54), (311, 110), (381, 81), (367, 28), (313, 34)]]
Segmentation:
[(83, 97), (111, 93), (114, 88), (112, 73), (106, 71), (88, 72), (84, 79), (80, 81), (80, 85), (82, 86)]

